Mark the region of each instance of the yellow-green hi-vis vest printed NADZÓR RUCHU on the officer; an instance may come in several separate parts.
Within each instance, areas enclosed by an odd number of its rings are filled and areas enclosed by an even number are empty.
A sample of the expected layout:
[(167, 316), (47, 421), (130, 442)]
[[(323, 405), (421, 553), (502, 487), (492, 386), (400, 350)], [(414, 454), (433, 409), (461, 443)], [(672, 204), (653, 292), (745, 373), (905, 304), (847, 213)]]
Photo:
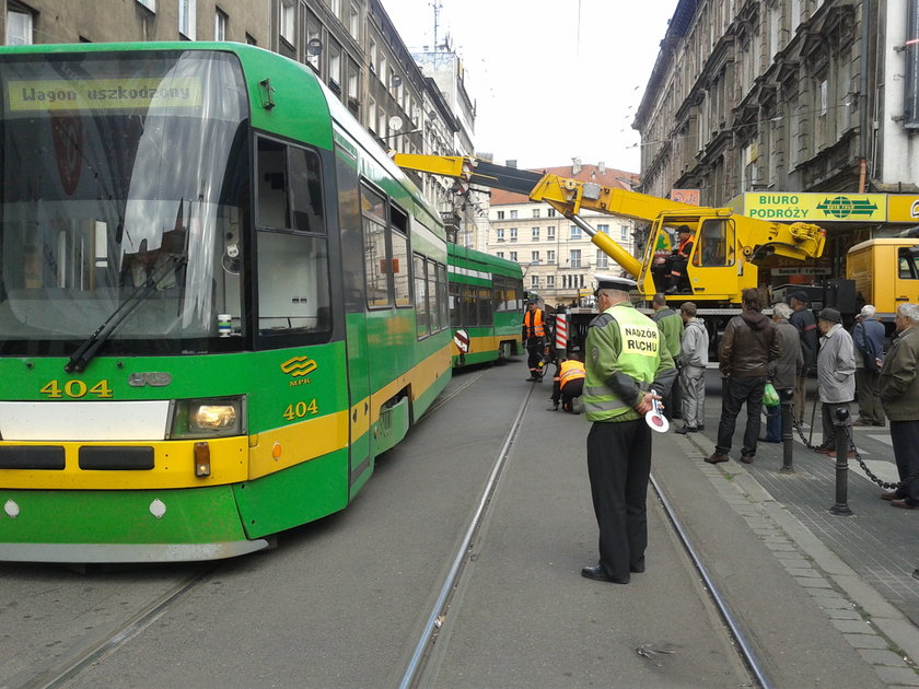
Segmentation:
[[(615, 330), (612, 334), (595, 332), (608, 328)], [(602, 335), (609, 335), (617, 341), (618, 354), (609, 346), (610, 337)], [(608, 364), (615, 361), (623, 373), (635, 378), (638, 386), (647, 390), (661, 363), (661, 344), (658, 325), (628, 303), (607, 308), (591, 323), (585, 344), (588, 375), (581, 397), (588, 421), (628, 421), (639, 418), (632, 407), (606, 386), (605, 378), (598, 373), (605, 366), (598, 366), (596, 362)]]

